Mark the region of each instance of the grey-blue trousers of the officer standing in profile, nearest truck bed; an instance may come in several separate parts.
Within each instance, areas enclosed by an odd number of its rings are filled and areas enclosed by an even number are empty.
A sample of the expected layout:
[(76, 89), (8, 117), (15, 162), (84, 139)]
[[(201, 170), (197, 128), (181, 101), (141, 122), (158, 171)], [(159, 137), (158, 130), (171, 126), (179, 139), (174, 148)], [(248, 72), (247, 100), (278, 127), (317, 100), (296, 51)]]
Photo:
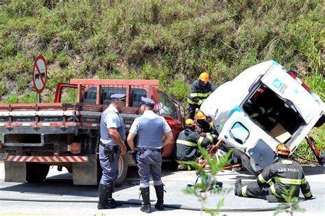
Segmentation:
[(119, 155), (119, 151), (114, 152), (114, 159), (109, 161), (107, 155), (104, 153), (104, 147), (99, 146), (99, 162), (103, 170), (103, 175), (100, 180), (101, 185), (109, 185), (117, 178), (119, 174)]

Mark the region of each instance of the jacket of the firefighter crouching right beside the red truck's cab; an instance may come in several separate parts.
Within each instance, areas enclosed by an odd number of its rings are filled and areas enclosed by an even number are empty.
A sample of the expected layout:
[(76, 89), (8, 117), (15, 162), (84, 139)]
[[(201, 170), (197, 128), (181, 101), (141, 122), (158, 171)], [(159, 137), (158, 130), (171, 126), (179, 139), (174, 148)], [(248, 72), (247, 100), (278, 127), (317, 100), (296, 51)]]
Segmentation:
[(176, 161), (194, 161), (199, 153), (197, 146), (206, 147), (217, 141), (217, 135), (200, 136), (193, 129), (185, 129), (180, 132), (176, 140), (176, 146), (173, 149), (173, 157)]

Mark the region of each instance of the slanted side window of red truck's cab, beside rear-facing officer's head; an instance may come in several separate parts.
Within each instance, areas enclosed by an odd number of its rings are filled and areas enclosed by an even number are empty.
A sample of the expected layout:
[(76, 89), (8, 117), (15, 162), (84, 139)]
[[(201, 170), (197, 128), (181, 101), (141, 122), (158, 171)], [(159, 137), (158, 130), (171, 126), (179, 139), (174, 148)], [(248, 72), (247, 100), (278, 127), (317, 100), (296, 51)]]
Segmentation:
[(171, 116), (173, 119), (178, 120), (178, 111), (176, 105), (165, 92), (157, 91), (159, 104), (158, 109), (160, 115)]

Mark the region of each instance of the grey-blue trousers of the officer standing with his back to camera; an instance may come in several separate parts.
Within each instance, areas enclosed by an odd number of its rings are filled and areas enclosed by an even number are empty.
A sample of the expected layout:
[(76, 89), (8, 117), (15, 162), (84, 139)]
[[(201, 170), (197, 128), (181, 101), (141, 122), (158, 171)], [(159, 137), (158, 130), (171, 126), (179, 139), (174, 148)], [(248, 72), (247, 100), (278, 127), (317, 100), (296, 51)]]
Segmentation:
[(150, 175), (154, 180), (154, 185), (163, 185), (161, 181), (161, 162), (163, 158), (160, 152), (146, 150), (136, 154), (138, 161), (138, 173), (140, 176), (140, 186), (149, 187)]

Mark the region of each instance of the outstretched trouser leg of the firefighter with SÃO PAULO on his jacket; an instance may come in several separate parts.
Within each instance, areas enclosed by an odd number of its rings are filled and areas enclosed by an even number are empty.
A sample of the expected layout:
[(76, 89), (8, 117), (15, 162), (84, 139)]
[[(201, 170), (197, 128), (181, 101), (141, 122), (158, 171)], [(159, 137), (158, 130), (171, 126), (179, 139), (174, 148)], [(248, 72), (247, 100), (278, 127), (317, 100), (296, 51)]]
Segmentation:
[(263, 195), (269, 195), (269, 185), (258, 184), (256, 182), (250, 183), (249, 185), (239, 187), (237, 194), (245, 198), (256, 198)]

